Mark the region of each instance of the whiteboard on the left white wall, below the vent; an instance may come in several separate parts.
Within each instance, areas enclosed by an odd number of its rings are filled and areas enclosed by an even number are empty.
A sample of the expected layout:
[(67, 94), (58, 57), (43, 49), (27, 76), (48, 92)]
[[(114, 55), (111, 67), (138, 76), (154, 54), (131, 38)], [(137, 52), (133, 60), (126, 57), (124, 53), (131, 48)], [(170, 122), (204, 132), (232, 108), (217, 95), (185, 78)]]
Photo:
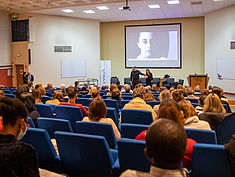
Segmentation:
[(86, 77), (86, 61), (61, 60), (61, 77)]

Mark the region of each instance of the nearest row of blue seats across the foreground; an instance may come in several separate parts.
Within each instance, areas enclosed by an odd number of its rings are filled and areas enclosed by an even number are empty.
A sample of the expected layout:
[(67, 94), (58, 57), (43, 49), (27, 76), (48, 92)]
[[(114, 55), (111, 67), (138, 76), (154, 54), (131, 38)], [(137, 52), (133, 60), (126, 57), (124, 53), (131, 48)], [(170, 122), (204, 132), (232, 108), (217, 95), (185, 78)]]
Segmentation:
[[(44, 129), (29, 128), (22, 139), (36, 148), (40, 167), (59, 168), (74, 176), (119, 176), (126, 169), (149, 171), (150, 162), (144, 155), (144, 141), (120, 138), (116, 150), (110, 149), (106, 139), (99, 135), (56, 131), (54, 137), (59, 155)], [(224, 146), (194, 145), (192, 176), (230, 177)]]

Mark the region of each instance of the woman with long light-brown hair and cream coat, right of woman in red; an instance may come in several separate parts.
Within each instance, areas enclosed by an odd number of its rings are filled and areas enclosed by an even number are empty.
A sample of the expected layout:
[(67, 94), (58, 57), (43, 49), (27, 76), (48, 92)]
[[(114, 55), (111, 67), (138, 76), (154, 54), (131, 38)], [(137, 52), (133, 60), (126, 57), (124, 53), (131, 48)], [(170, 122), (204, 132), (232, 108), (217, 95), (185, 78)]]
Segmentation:
[(208, 122), (199, 120), (195, 108), (186, 100), (179, 102), (179, 108), (184, 115), (184, 128), (211, 130)]

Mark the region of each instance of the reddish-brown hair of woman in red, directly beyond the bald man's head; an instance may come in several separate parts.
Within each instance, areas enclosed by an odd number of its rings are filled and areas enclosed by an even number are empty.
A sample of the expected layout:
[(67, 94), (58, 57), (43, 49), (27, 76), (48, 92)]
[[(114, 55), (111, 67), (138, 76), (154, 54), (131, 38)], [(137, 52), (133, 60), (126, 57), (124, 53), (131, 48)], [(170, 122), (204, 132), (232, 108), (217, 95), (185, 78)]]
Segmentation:
[(158, 118), (167, 118), (183, 126), (183, 115), (179, 105), (172, 99), (165, 99), (161, 102), (158, 109)]

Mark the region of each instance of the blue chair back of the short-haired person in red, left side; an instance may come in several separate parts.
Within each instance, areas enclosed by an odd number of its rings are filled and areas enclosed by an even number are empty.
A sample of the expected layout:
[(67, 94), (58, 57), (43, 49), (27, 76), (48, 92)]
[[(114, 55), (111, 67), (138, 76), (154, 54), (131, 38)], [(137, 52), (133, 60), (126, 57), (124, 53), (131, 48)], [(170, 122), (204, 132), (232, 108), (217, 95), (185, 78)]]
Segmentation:
[(76, 121), (81, 121), (83, 119), (81, 109), (75, 106), (57, 105), (55, 106), (55, 113), (57, 119), (69, 120), (73, 130), (76, 129)]

